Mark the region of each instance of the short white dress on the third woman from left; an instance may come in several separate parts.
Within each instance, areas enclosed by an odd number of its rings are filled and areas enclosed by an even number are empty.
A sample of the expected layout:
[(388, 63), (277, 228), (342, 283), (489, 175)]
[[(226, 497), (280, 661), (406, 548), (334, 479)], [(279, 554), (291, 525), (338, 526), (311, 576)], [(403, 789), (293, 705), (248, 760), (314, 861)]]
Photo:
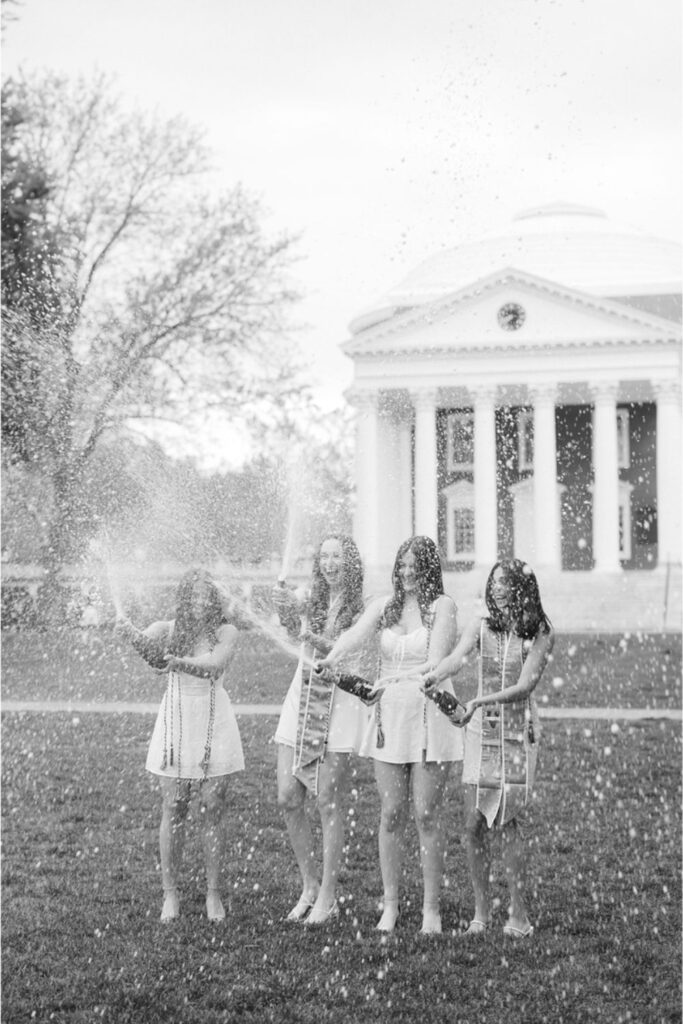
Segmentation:
[[(421, 690), (422, 676), (411, 668), (427, 658), (429, 633), (420, 626), (412, 633), (383, 629), (380, 636), (382, 698), (371, 711), (360, 748), (362, 757), (390, 764), (462, 761), (462, 730), (452, 725)], [(451, 683), (442, 689), (453, 693)]]

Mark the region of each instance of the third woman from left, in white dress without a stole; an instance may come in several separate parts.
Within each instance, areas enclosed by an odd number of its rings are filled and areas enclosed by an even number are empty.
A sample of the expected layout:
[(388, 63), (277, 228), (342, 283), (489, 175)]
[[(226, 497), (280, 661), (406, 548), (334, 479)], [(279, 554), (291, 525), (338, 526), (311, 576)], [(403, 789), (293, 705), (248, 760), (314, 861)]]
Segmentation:
[(377, 928), (391, 932), (398, 918), (412, 796), (424, 882), (422, 932), (434, 934), (441, 930), (441, 808), (451, 766), (462, 760), (463, 748), (459, 731), (423, 693), (421, 672), (453, 649), (457, 611), (443, 593), (438, 552), (428, 537), (401, 544), (392, 583), (393, 593), (372, 601), (321, 664), (338, 669), (341, 658), (379, 632), (378, 686), (383, 690), (360, 750), (374, 759), (382, 805), (379, 848), (384, 899)]

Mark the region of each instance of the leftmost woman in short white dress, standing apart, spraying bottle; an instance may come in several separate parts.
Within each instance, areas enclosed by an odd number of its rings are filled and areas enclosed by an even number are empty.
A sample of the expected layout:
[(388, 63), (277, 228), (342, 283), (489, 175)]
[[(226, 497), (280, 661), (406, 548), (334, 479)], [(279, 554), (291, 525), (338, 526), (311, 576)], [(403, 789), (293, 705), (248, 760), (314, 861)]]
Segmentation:
[(223, 680), (238, 630), (226, 621), (225, 596), (203, 569), (185, 573), (176, 593), (175, 617), (136, 629), (123, 614), (117, 631), (145, 660), (168, 673), (146, 769), (159, 777), (159, 829), (164, 923), (178, 916), (178, 876), (191, 787), (199, 786), (207, 879), (206, 911), (223, 921), (219, 877), (228, 778), (244, 768), (242, 742)]

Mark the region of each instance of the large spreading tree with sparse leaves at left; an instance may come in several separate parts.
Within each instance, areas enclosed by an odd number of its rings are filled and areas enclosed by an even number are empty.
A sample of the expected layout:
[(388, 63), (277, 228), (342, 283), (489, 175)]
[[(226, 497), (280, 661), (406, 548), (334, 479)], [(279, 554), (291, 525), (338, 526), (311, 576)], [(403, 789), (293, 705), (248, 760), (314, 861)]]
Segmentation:
[(266, 238), (241, 186), (203, 186), (200, 131), (126, 110), (103, 77), (18, 78), (3, 97), (4, 440), (51, 482), (51, 600), (104, 441), (212, 408), (289, 424), (294, 240)]

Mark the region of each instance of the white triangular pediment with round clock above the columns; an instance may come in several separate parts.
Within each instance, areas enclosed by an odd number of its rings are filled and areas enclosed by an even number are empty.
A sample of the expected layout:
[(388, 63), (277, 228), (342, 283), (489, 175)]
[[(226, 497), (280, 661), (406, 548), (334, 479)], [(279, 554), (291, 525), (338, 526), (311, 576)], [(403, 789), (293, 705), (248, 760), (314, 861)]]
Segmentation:
[(354, 334), (351, 358), (390, 353), (533, 350), (680, 342), (677, 325), (610, 299), (506, 268), (438, 302), (400, 310)]

